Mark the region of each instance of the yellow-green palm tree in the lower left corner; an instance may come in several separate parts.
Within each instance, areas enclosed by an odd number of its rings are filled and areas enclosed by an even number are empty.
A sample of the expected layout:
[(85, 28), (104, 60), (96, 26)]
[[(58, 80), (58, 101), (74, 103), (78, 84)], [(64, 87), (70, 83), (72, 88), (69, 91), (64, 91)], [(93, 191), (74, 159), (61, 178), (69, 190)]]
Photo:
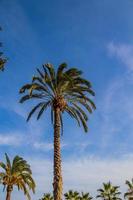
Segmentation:
[(7, 154), (5, 157), (6, 163), (0, 162), (0, 167), (4, 170), (0, 173), (0, 182), (4, 185), (4, 190), (7, 191), (6, 200), (11, 199), (14, 186), (17, 186), (18, 190), (23, 190), (30, 200), (28, 189), (35, 192), (35, 182), (32, 178), (30, 165), (19, 156), (15, 156), (12, 163)]

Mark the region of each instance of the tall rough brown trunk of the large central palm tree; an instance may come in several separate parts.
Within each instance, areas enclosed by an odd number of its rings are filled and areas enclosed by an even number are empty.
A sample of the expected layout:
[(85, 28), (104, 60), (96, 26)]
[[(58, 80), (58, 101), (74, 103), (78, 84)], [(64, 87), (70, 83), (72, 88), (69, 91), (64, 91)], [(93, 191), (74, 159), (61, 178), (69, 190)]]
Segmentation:
[(54, 200), (62, 199), (62, 173), (61, 173), (61, 148), (60, 148), (60, 109), (56, 108), (54, 111), (54, 181), (53, 181), (53, 195)]

